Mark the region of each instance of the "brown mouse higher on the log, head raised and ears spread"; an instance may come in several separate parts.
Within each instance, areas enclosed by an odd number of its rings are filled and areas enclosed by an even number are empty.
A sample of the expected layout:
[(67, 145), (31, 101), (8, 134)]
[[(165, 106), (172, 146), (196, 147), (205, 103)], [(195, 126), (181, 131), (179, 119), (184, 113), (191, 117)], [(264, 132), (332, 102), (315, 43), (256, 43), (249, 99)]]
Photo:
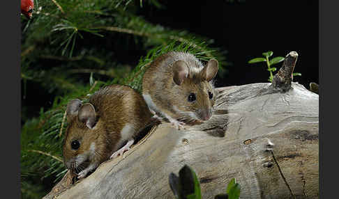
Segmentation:
[(153, 118), (167, 120), (176, 129), (209, 120), (217, 72), (216, 59), (203, 65), (186, 52), (170, 51), (156, 58), (142, 79), (142, 96)]

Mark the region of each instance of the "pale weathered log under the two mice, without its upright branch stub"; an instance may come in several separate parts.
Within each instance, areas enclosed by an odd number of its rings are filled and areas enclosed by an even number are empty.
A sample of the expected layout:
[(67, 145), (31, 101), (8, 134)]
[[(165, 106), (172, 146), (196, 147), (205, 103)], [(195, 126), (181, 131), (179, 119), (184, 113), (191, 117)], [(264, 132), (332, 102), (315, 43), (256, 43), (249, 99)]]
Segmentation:
[(241, 198), (318, 198), (319, 97), (298, 83), (285, 93), (270, 85), (218, 88), (208, 122), (184, 131), (159, 125), (125, 158), (75, 185), (66, 177), (45, 198), (174, 198), (168, 176), (185, 164), (197, 173), (203, 198), (225, 192), (233, 177)]

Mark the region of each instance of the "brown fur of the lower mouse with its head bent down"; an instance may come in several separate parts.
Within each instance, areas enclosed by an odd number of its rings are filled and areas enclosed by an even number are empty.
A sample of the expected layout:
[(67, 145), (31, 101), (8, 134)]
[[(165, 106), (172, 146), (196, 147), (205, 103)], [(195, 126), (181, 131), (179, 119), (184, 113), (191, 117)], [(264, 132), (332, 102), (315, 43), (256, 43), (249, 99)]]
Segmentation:
[[(89, 152), (93, 142), (96, 144), (96, 156), (89, 161), (100, 164), (107, 160), (117, 147), (116, 144), (121, 139), (121, 129), (126, 124), (133, 125), (133, 136), (137, 136), (151, 118), (142, 96), (128, 86), (111, 85), (102, 88), (91, 95), (89, 103), (96, 111), (97, 122), (92, 129), (81, 122), (77, 114), (68, 114), (70, 117), (63, 144), (63, 159), (68, 168), (74, 157)], [(73, 140), (80, 141), (78, 150), (70, 147)]]

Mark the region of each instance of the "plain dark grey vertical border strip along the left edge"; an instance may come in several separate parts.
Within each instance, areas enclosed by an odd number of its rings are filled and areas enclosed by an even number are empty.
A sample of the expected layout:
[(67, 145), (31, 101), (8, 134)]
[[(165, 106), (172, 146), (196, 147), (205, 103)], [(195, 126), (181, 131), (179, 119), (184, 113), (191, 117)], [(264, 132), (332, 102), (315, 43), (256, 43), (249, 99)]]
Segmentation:
[[(3, 198), (20, 198), (20, 2), (4, 3), (1, 19), (1, 179)], [(6, 197), (10, 196), (10, 197)]]

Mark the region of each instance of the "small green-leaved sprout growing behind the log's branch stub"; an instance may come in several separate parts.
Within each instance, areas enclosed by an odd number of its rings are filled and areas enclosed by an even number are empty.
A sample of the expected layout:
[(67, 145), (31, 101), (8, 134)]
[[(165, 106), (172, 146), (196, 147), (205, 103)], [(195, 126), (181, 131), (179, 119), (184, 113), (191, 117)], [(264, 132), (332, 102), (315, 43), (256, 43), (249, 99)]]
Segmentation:
[[(272, 82), (273, 79), (273, 72), (277, 70), (276, 67), (271, 67), (277, 63), (280, 63), (285, 60), (283, 56), (276, 56), (274, 58), (269, 59), (273, 55), (273, 51), (266, 51), (262, 53), (264, 57), (253, 58), (248, 63), (259, 63), (259, 62), (266, 62), (267, 70), (269, 71), (269, 82)], [(294, 72), (293, 76), (301, 76), (300, 72)]]

